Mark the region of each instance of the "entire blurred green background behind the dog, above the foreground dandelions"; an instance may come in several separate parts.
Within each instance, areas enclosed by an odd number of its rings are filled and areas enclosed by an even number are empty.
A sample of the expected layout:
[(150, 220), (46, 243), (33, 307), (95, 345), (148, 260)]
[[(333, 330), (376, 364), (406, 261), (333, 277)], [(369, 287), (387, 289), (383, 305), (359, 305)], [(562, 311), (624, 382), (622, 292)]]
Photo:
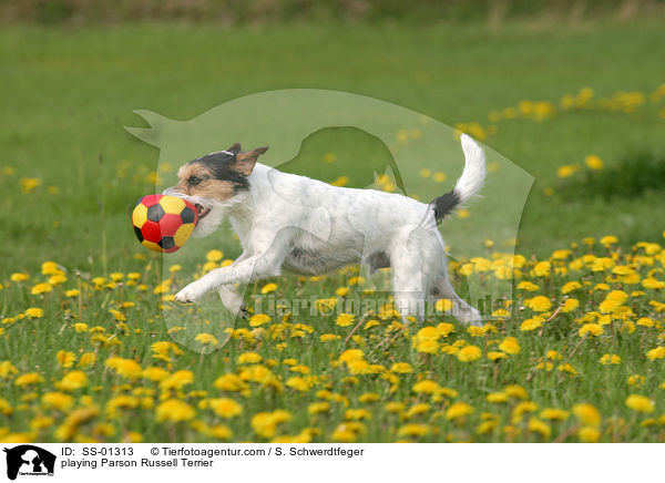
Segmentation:
[[(129, 212), (154, 189), (158, 158), (124, 131), (144, 125), (132, 111), (187, 120), (288, 88), (464, 123), (536, 177), (523, 254), (607, 234), (661, 242), (664, 12), (661, 1), (4, 2), (0, 275), (45, 259), (130, 269), (146, 250)], [(533, 102), (553, 111), (541, 117)], [(331, 151), (336, 162), (323, 163)], [(324, 166), (307, 174), (354, 185), (359, 153), (385, 165), (385, 146), (354, 130), (316, 134), (298, 157)], [(585, 167), (589, 155), (603, 168)]]

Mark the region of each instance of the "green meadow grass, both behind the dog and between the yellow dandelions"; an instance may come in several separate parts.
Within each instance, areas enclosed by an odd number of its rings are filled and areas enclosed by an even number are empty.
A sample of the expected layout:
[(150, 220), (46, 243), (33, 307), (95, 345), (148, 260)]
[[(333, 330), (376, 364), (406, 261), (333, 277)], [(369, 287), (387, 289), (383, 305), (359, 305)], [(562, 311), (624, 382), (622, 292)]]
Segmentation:
[[(337, 24), (256, 30), (166, 25), (98, 30), (4, 28), (0, 32), (3, 100), (0, 168), (11, 167), (14, 173), (0, 174), (4, 194), (4, 201), (0, 202), (4, 242), (0, 246), (0, 281), (4, 286), (0, 290), (0, 316), (16, 318), (29, 307), (44, 309), (45, 316), (2, 326), (0, 361), (12, 361), (19, 373), (38, 372), (43, 382), (34, 389), (19, 387), (14, 384), (18, 374), (13, 373), (0, 381), (2, 398), (13, 411), (2, 415), (0, 407), (0, 436), (2, 428), (12, 433), (27, 432), (30, 421), (48, 415), (53, 418), (51, 425), (35, 429), (35, 433), (25, 438), (57, 438), (55, 430), (63, 423), (65, 412), (44, 408), (40, 401), (43, 393), (55, 390), (57, 381), (69, 370), (55, 364), (55, 353), (65, 350), (73, 352), (76, 359), (84, 352), (94, 352), (98, 357), (95, 363), (83, 368), (89, 378), (88, 386), (72, 391), (75, 405), (92, 402), (101, 410), (92, 422), (80, 428), (79, 439), (117, 441), (135, 431), (145, 441), (198, 441), (212, 439), (204, 429), (219, 423), (228, 424), (236, 440), (260, 439), (250, 429), (252, 417), (260, 411), (288, 407), (293, 421), (280, 425), (277, 434), (296, 434), (314, 427), (321, 431), (316, 440), (328, 441), (347, 408), (342, 402), (334, 402), (329, 414), (310, 417), (307, 407), (320, 399), (315, 394), (317, 390), (329, 389), (348, 398), (348, 408), (377, 409), (374, 419), (365, 422), (367, 432), (359, 435), (362, 441), (398, 438), (398, 428), (407, 421), (379, 410), (387, 401), (402, 401), (407, 408), (419, 402), (430, 403), (432, 408), (424, 417), (411, 420), (427, 423), (433, 431), (426, 440), (441, 441), (448, 434), (456, 441), (511, 440), (510, 431), (513, 430), (509, 429), (508, 433), (501, 430), (509, 425), (516, 428), (514, 440), (540, 441), (543, 438), (528, 429), (529, 418), (511, 423), (516, 400), (500, 408), (485, 402), (487, 393), (519, 383), (526, 388), (530, 399), (540, 409), (571, 410), (584, 401), (595, 404), (603, 415), (603, 441), (659, 441), (659, 427), (640, 425), (637, 422), (644, 417), (627, 409), (624, 400), (631, 392), (656, 394), (653, 415), (663, 413), (663, 390), (657, 389), (663, 382), (659, 377), (662, 361), (645, 358), (646, 350), (662, 343), (656, 339), (662, 332), (662, 314), (648, 305), (648, 300), (657, 300), (661, 294), (649, 289), (645, 296), (632, 297), (626, 302), (635, 312), (633, 320), (652, 317), (658, 321), (656, 328), (638, 327), (628, 335), (617, 318), (604, 326), (603, 336), (584, 339), (575, 349), (582, 339), (577, 336), (579, 325), (574, 319), (597, 310), (606, 294), (590, 290), (611, 276), (608, 269), (601, 273), (584, 269), (539, 279), (529, 274), (529, 265), (522, 276), (536, 281), (541, 286), (536, 294), (552, 298), (555, 305), (562, 300), (560, 288), (564, 281), (589, 282), (576, 296), (580, 308), (569, 315), (560, 314), (553, 322), (545, 323), (542, 332), (519, 330), (519, 323), (532, 315), (525, 309), (525, 312), (515, 312), (513, 321), (498, 323), (498, 333), (475, 338), (458, 325), (454, 335), (444, 341), (467, 340), (467, 343), (479, 346), (484, 356), (495, 350), (492, 340), (516, 336), (520, 353), (497, 364), (484, 358), (461, 362), (454, 356), (419, 353), (411, 345), (416, 330), (408, 336), (396, 332), (397, 326), (390, 326), (390, 318), (381, 320), (374, 329), (359, 328), (356, 333), (362, 336), (362, 340), (351, 339), (345, 346), (352, 326), (342, 328), (335, 325), (334, 318), (320, 316), (290, 320), (291, 326), (284, 328), (286, 333), (294, 332), (295, 336), (284, 340), (277, 338), (257, 343), (233, 339), (216, 352), (216, 357), (202, 357), (185, 350), (173, 358), (172, 366), (154, 359), (151, 345), (171, 340), (166, 332), (171, 326), (163, 323), (158, 309), (160, 296), (153, 295), (160, 281), (161, 259), (146, 254), (136, 243), (129, 213), (140, 196), (154, 189), (149, 175), (156, 168), (158, 153), (133, 138), (123, 126), (142, 125), (142, 121), (132, 114), (135, 109), (150, 109), (175, 120), (188, 120), (242, 95), (286, 88), (350, 91), (420, 111), (451, 125), (477, 121), (485, 126), (491, 111), (514, 106), (523, 100), (551, 101), (557, 105), (563, 94), (575, 94), (586, 85), (595, 90), (596, 97), (611, 96), (616, 91), (644, 92), (647, 102), (634, 113), (570, 110), (543, 122), (501, 121), (497, 123), (497, 134), (488, 137), (485, 144), (536, 177), (520, 226), (520, 253), (536, 254), (546, 259), (553, 249), (566, 248), (572, 242), (580, 243), (584, 236), (613, 234), (620, 239), (618, 248), (614, 250), (615, 263), (636, 264), (645, 278), (653, 267), (646, 260), (625, 257), (636, 242), (662, 240), (665, 204), (659, 192), (645, 191), (606, 203), (602, 195), (567, 197), (555, 193), (546, 196), (544, 189), (561, 186), (556, 177), (559, 166), (582, 164), (589, 154), (601, 156), (608, 168), (621, 166), (622, 158), (635, 151), (651, 151), (662, 158), (665, 120), (658, 116), (658, 110), (663, 104), (648, 101), (648, 93), (665, 79), (665, 68), (654, 61), (665, 56), (661, 27), (654, 19), (626, 24), (593, 24), (577, 30), (559, 30), (552, 25), (538, 32), (522, 24), (499, 31), (480, 27), (417, 29)], [(254, 115), (260, 116), (260, 112)], [(219, 147), (235, 141), (243, 140), (226, 140), (221, 133), (223, 145)], [(329, 151), (338, 155), (334, 165), (314, 165), (307, 161), (321, 160)], [(349, 175), (355, 183), (356, 156), (376, 166), (385, 166), (388, 161), (385, 146), (376, 140), (351, 129), (327, 130), (308, 138), (289, 171), (327, 181)], [(172, 164), (175, 166), (184, 161), (173, 160)], [(170, 175), (173, 176), (173, 172)], [(19, 179), (32, 177), (41, 181), (40, 186), (23, 194)], [(451, 182), (449, 179), (442, 186), (448, 188)], [(57, 187), (58, 193), (51, 194), (49, 186)], [(470, 209), (473, 214), (472, 206)], [(215, 245), (214, 239), (208, 239), (201, 246)], [(233, 242), (225, 242), (222, 248), (227, 257), (238, 253)], [(580, 249), (574, 256), (582, 253)], [(596, 246), (594, 253), (602, 256), (605, 249)], [(50, 294), (31, 295), (30, 287), (48, 278), (40, 274), (45, 260), (55, 260), (64, 267), (69, 280)], [(652, 261), (659, 268), (662, 255), (659, 260)], [(30, 281), (10, 282), (10, 274), (17, 271), (29, 274)], [(114, 271), (140, 273), (140, 281), (146, 285), (146, 291), (126, 285), (93, 289), (91, 278), (109, 277)], [(182, 287), (191, 276), (188, 270), (178, 273), (172, 288)], [(285, 277), (276, 282), (278, 294), (284, 298), (330, 297), (348, 281), (347, 278), (334, 274), (319, 281)], [(458, 277), (456, 284), (461, 282)], [(80, 288), (78, 298), (64, 296), (64, 290), (72, 288)], [(612, 288), (631, 294), (640, 285), (630, 286), (614, 279)], [(522, 306), (530, 296), (518, 295), (514, 306)], [(123, 301), (135, 306), (121, 308)], [(110, 315), (112, 308), (126, 314), (126, 326)], [(369, 318), (367, 315), (357, 320)], [(436, 326), (440, 321), (440, 318), (432, 318), (427, 325)], [(75, 322), (103, 327), (102, 335), (113, 336), (110, 340), (121, 345), (94, 339), (90, 332), (75, 332)], [(311, 326), (314, 332), (300, 333), (293, 327), (299, 322)], [(239, 327), (246, 328), (246, 322), (241, 322)], [(194, 329), (213, 331), (203, 326)], [(324, 333), (337, 333), (340, 340), (321, 343), (318, 337)], [(390, 346), (386, 342), (375, 349), (381, 340), (392, 337)], [(283, 341), (287, 345), (279, 350), (277, 343)], [(331, 360), (342, 350), (356, 347), (365, 351), (371, 363), (389, 369), (393, 362), (409, 362), (415, 372), (400, 377), (395, 392), (390, 392), (389, 382), (377, 377), (359, 376), (358, 383), (354, 383), (346, 379), (350, 376), (347, 369), (332, 366)], [(562, 354), (563, 359), (555, 363), (570, 359), (577, 376), (536, 369), (539, 360), (546, 358), (548, 350)], [(135, 359), (143, 368), (154, 364), (172, 371), (192, 370), (194, 382), (184, 386), (181, 392), (174, 391), (173, 395), (180, 394), (192, 407), (197, 407), (206, 397), (190, 394), (190, 391), (205, 390), (209, 397), (217, 397), (219, 391), (213, 387), (213, 381), (225, 372), (241, 372), (236, 358), (246, 351), (257, 351), (264, 359), (274, 359), (273, 371), (282, 384), (294, 376), (284, 360), (297, 359), (317, 378), (314, 389), (300, 395), (294, 389), (283, 388), (279, 392), (250, 382), (252, 394), (247, 398), (231, 394), (244, 407), (241, 418), (226, 422), (203, 404), (197, 409), (197, 418), (204, 425), (195, 430), (185, 423), (157, 423), (154, 418), (160, 397), (157, 384), (141, 382), (141, 387), (147, 388), (143, 395), (154, 398), (151, 404), (144, 401), (144, 409), (123, 411), (119, 418), (105, 415), (109, 400), (132, 389), (131, 379), (123, 379), (104, 366), (112, 354)], [(620, 354), (621, 364), (601, 366), (598, 359), (604, 353)], [(76, 366), (71, 369), (74, 368)], [(645, 384), (628, 386), (626, 381), (632, 374), (645, 376)], [(448, 400), (413, 394), (411, 388), (420, 378), (433, 379), (440, 386), (457, 390), (457, 400), (472, 404), (475, 412), (459, 424), (436, 415), (437, 411), (447, 411)], [(366, 392), (376, 392), (379, 401), (360, 402), (360, 395)], [(81, 395), (90, 395), (92, 401), (81, 400)], [(483, 411), (499, 418), (498, 429), (479, 435), (475, 428)], [(109, 422), (113, 432), (106, 434), (105, 427), (99, 427), (101, 422)], [(548, 439), (564, 434), (575, 424), (573, 417), (566, 422), (553, 423), (552, 436)], [(574, 433), (571, 433), (571, 440), (576, 439)]]

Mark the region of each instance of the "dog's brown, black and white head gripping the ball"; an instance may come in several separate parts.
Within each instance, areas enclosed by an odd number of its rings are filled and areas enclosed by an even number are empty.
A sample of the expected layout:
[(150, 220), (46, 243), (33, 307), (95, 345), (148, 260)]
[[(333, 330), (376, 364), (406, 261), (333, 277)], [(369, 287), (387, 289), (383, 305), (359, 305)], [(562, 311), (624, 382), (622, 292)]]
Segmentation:
[(163, 194), (185, 198), (196, 206), (198, 223), (193, 235), (207, 236), (217, 229), (241, 195), (249, 191), (248, 176), (266, 151), (267, 147), (257, 147), (243, 152), (236, 143), (226, 151), (197, 157), (181, 166), (178, 183)]

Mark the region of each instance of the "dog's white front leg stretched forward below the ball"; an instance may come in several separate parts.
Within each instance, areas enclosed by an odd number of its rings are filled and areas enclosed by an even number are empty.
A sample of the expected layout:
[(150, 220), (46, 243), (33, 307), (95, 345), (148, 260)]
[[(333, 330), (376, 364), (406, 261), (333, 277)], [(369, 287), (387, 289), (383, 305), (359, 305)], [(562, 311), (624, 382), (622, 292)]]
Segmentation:
[(187, 285), (176, 294), (175, 300), (183, 304), (191, 302), (226, 284), (248, 284), (253, 280), (279, 275), (286, 257), (286, 247), (285, 243), (274, 240), (267, 249), (255, 251), (228, 267), (216, 268)]

